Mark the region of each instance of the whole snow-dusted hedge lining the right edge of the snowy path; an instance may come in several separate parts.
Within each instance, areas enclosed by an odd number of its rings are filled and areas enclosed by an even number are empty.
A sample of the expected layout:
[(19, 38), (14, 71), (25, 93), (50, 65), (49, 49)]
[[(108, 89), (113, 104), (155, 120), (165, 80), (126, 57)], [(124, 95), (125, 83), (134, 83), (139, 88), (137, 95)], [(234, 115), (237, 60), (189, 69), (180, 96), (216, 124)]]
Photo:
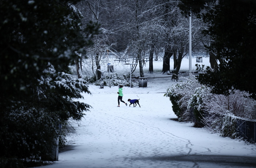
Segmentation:
[(248, 93), (234, 90), (225, 96), (210, 91), (211, 88), (190, 76), (187, 82), (178, 82), (168, 88), (165, 95), (172, 101), (173, 112), (179, 121), (202, 124), (224, 137), (237, 137), (236, 117), (256, 119), (256, 101), (248, 98)]

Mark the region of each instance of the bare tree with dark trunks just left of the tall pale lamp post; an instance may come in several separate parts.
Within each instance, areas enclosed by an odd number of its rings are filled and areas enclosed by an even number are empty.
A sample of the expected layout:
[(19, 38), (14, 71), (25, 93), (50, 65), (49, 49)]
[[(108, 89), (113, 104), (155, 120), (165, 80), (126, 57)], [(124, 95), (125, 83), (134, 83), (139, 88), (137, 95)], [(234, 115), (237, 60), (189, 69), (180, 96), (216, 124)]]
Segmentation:
[(173, 56), (172, 80), (178, 80), (181, 60), (188, 46), (188, 22), (181, 15), (177, 1), (163, 1), (163, 26), (165, 27), (165, 52), (162, 73), (170, 74), (170, 58)]

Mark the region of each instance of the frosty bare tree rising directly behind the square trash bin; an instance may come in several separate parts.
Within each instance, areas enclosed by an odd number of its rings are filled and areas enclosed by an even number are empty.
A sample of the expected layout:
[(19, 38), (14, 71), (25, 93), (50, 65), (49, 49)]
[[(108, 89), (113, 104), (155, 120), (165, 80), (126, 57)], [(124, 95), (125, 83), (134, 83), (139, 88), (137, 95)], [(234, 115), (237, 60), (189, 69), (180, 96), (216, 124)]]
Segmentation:
[(149, 54), (150, 68), (153, 73), (153, 55), (158, 49), (159, 39), (161, 39), (162, 26), (159, 23), (157, 0), (133, 0), (124, 1), (118, 9), (122, 12), (121, 20), (124, 23), (123, 30), (128, 32), (128, 42), (130, 55), (139, 63), (140, 77), (144, 77), (143, 66), (145, 57)]

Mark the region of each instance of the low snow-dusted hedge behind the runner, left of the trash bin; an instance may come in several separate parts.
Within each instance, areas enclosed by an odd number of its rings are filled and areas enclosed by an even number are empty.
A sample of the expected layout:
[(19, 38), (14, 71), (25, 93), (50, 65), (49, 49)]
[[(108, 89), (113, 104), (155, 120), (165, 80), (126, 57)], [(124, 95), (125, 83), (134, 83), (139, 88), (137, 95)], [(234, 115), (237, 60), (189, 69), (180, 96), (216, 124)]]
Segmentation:
[[(87, 84), (89, 85), (97, 85), (97, 86), (100, 86), (101, 83), (103, 83), (103, 86), (109, 86), (109, 76), (106, 76), (102, 79), (99, 79), (97, 81), (95, 81), (95, 78), (94, 77), (84, 77), (83, 78)], [(118, 85), (124, 85), (124, 86), (130, 86), (130, 75), (123, 75), (123, 76), (120, 76), (120, 75), (117, 75), (117, 74), (114, 74), (114, 75), (110, 75), (110, 84), (111, 86), (118, 86)], [(132, 77), (132, 86), (133, 87), (138, 87), (139, 86), (139, 81), (138, 79)]]

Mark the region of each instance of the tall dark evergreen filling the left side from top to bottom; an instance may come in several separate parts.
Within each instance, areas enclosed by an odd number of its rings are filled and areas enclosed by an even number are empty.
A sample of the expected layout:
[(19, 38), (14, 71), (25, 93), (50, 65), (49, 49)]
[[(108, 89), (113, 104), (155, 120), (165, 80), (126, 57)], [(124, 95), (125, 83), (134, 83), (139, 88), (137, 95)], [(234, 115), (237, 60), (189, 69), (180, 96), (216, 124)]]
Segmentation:
[(69, 65), (97, 30), (82, 30), (76, 1), (0, 0), (1, 167), (40, 160), (59, 134), (56, 122), (80, 120), (90, 108), (74, 100), (90, 92)]

